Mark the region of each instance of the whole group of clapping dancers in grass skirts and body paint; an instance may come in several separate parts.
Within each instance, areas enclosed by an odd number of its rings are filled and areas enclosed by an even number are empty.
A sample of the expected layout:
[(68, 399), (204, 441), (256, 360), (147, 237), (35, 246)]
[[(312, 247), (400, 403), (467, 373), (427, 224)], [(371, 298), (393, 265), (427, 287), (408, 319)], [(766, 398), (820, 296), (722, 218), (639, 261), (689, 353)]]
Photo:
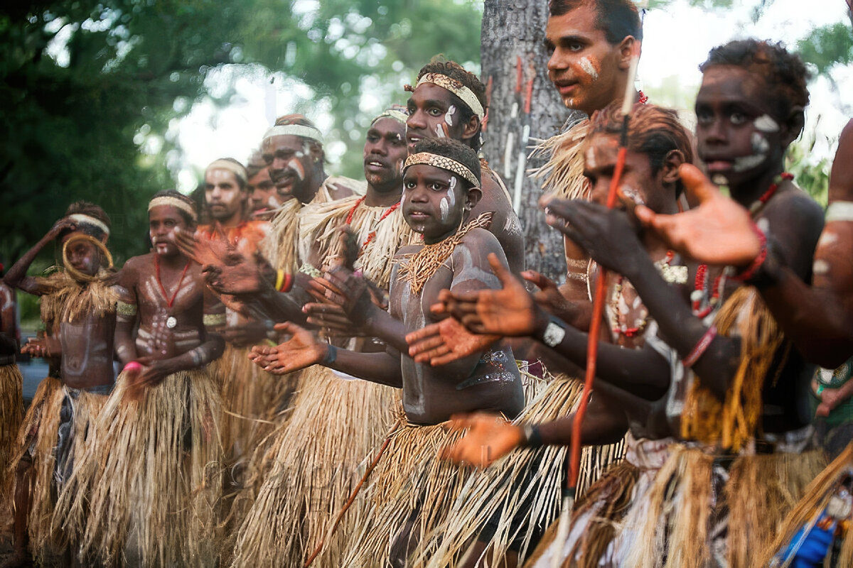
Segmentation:
[(7, 565), (853, 565), (853, 123), (824, 212), (783, 171), (797, 55), (711, 49), (690, 132), (634, 88), (630, 0), (549, 9), (589, 117), (535, 151), (563, 283), (525, 270), (487, 89), (446, 60), (370, 123), (363, 181), (294, 114), (154, 195), (120, 269), (69, 206), (3, 278), (41, 301), (26, 416), (0, 288)]

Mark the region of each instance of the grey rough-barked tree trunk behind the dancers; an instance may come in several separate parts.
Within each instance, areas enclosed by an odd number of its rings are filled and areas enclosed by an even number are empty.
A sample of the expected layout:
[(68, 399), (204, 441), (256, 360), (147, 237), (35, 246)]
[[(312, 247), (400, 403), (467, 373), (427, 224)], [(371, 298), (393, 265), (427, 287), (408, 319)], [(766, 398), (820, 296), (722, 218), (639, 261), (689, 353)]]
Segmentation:
[(527, 169), (529, 146), (560, 132), (569, 118), (548, 80), (548, 0), (485, 0), (480, 60), (489, 96), (485, 152), (506, 181), (525, 232), (527, 268), (560, 282), (566, 275), (561, 233), (545, 224), (541, 187)]

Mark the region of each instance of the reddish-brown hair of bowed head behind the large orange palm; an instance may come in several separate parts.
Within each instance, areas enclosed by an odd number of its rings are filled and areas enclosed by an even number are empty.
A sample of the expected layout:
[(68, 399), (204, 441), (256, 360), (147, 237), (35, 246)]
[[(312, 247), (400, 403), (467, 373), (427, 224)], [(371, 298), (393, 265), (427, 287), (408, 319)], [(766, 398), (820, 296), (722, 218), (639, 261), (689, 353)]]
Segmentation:
[[(621, 101), (612, 102), (601, 111), (593, 113), (583, 151), (585, 152), (595, 134), (619, 135), (623, 123)], [(673, 150), (682, 152), (685, 164), (693, 163), (693, 144), (687, 129), (678, 120), (678, 113), (664, 106), (642, 103), (634, 105), (628, 123), (628, 149), (648, 157), (653, 175), (664, 166), (666, 155)], [(682, 192), (681, 183), (676, 183), (676, 194)]]

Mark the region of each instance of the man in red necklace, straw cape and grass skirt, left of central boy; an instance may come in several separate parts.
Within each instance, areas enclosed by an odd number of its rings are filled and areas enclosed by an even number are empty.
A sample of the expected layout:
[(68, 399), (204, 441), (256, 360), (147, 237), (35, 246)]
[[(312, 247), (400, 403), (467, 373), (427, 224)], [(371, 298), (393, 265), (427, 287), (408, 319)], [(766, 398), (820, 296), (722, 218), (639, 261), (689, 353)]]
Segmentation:
[[(387, 294), (397, 249), (419, 240), (400, 210), (401, 169), (408, 153), (403, 111), (392, 106), (370, 124), (363, 158), (367, 192), (305, 205), (299, 215), (300, 249), (307, 264), (323, 272), (339, 265), (344, 255), (340, 233), (348, 228), (359, 247), (355, 267), (380, 295)], [(360, 353), (386, 349), (380, 340), (352, 337), (349, 323), (328, 331), (328, 341), (338, 347)], [(399, 398), (395, 388), (353, 378), (321, 365), (300, 376), (305, 387), (293, 399), (287, 422), (270, 444), (275, 461), (264, 472), (264, 484), (241, 526), (235, 566), (297, 568), (326, 536), (334, 513), (343, 507), (357, 481), (353, 473), (359, 462), (391, 427), (388, 410)], [(354, 432), (358, 435), (353, 436)], [(306, 463), (327, 465), (315, 469), (306, 468)], [(355, 520), (347, 517), (334, 537), (326, 539), (317, 565), (339, 565), (347, 539), (357, 531)]]

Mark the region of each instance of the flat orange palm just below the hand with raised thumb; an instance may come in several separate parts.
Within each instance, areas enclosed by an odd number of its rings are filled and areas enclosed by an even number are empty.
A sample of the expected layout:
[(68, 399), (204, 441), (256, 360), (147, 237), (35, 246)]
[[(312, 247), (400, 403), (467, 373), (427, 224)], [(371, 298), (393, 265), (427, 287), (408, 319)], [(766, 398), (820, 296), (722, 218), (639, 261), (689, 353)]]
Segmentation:
[(444, 318), (406, 336), (409, 356), (433, 367), (452, 363), (488, 349), (501, 336), (482, 336), (465, 329), (455, 318)]

